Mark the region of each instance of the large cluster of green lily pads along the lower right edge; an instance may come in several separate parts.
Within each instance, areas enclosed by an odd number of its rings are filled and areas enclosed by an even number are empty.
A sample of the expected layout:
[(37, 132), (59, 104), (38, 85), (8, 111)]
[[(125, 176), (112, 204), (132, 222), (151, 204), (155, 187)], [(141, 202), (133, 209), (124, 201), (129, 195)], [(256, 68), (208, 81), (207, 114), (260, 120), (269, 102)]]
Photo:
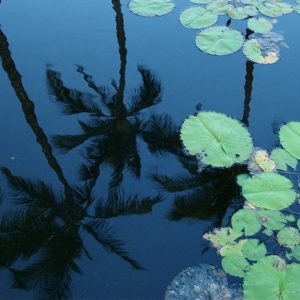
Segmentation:
[(280, 128), (282, 147), (270, 155), (253, 147), (239, 121), (216, 112), (186, 119), (181, 139), (206, 165), (248, 165), (248, 173), (237, 177), (244, 207), (233, 214), (231, 226), (204, 235), (222, 256), (225, 272), (243, 278), (244, 299), (299, 299), (300, 219), (292, 211), (299, 207), (299, 182), (287, 175), (298, 174), (289, 169), (296, 170), (300, 159), (300, 122)]

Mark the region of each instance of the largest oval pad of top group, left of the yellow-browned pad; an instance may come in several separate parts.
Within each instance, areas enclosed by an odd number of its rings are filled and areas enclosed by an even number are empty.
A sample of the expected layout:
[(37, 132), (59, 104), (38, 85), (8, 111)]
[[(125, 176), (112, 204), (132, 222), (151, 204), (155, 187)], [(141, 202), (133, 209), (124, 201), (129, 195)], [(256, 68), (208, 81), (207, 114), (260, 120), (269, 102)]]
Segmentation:
[(214, 26), (201, 31), (196, 37), (197, 47), (212, 55), (228, 55), (241, 49), (241, 32), (226, 26)]

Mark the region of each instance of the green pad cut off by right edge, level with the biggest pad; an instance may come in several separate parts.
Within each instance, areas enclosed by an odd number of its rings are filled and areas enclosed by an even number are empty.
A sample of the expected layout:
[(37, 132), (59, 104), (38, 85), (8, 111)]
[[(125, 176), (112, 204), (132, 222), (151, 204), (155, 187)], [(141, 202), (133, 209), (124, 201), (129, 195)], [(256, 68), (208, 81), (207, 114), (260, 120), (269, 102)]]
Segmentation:
[(279, 131), (279, 139), (283, 148), (300, 159), (300, 122), (289, 122)]

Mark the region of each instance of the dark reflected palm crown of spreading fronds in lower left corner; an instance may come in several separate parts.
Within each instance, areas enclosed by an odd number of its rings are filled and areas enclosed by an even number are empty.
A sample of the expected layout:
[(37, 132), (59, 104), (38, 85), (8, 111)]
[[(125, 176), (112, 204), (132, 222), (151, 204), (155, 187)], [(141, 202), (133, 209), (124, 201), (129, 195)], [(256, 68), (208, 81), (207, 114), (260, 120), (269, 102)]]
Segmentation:
[[(0, 223), (0, 265), (13, 274), (14, 287), (38, 290), (44, 298), (66, 299), (72, 274), (81, 273), (78, 260), (83, 255), (92, 259), (82, 239), (85, 233), (133, 268), (141, 269), (124, 242), (115, 238), (108, 219), (148, 213), (159, 197), (139, 199), (114, 192), (107, 199), (94, 199), (84, 185), (72, 188), (70, 201), (41, 180), (15, 176), (6, 168), (2, 173), (14, 207)], [(25, 266), (17, 268), (20, 258)]]

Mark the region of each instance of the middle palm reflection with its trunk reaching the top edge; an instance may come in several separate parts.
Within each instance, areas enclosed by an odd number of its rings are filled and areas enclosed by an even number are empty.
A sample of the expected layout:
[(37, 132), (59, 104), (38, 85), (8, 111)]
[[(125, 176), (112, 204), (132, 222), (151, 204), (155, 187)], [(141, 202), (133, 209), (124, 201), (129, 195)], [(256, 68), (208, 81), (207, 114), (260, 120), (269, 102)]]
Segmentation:
[(111, 87), (97, 85), (84, 67), (78, 66), (77, 72), (82, 74), (88, 87), (97, 95), (94, 96), (67, 88), (56, 71), (47, 70), (47, 78), (50, 93), (63, 104), (65, 114), (88, 114), (87, 121), (79, 121), (81, 133), (55, 136), (55, 146), (67, 152), (88, 141), (85, 147), (88, 163), (81, 167), (82, 179), (94, 184), (101, 164), (107, 163), (113, 170), (110, 187), (116, 188), (123, 180), (125, 169), (140, 177), (141, 159), (137, 143), (147, 127), (140, 115), (161, 101), (161, 85), (150, 70), (139, 66), (142, 84), (125, 100), (127, 49), (124, 20), (120, 1), (113, 0), (112, 4), (116, 13), (120, 54), (119, 82), (112, 81)]

